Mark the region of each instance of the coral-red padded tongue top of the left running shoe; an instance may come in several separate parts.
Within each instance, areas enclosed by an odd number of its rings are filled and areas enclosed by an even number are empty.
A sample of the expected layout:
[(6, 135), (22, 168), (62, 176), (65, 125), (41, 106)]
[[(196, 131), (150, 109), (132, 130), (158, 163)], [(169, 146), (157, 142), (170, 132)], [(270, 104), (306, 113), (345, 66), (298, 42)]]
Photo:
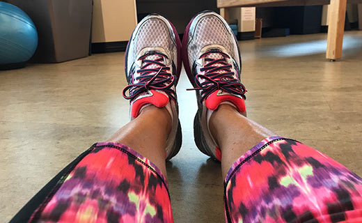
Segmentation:
[(168, 104), (168, 101), (168, 95), (165, 95), (160, 91), (145, 91), (132, 101), (131, 116), (132, 118), (139, 116), (141, 108), (145, 105), (151, 104), (155, 105), (156, 107), (165, 107)]

